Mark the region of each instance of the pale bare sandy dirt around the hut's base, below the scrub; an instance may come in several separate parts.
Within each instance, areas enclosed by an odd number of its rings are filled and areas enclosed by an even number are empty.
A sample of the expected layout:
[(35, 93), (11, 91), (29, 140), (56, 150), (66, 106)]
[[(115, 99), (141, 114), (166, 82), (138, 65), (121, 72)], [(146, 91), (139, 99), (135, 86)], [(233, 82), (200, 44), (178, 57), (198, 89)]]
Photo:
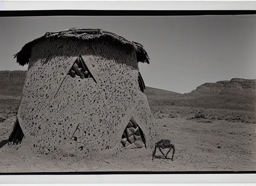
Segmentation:
[[(0, 141), (8, 139), (15, 116), (0, 123)], [(22, 143), (0, 149), (0, 172), (67, 171), (254, 171), (256, 124), (182, 117), (157, 118), (163, 139), (175, 145), (174, 161), (157, 150), (124, 149), (119, 155), (35, 155)], [(164, 150), (166, 152), (166, 150)], [(172, 151), (168, 154), (171, 158)], [(40, 157), (38, 157), (40, 156)]]

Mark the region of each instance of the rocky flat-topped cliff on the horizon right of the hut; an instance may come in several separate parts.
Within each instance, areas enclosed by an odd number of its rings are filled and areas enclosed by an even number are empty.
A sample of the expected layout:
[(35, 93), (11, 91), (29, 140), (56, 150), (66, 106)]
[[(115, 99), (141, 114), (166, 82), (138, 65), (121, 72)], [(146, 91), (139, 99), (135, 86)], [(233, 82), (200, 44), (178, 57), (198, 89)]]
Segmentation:
[(205, 83), (189, 94), (256, 94), (256, 80), (233, 78), (230, 81)]

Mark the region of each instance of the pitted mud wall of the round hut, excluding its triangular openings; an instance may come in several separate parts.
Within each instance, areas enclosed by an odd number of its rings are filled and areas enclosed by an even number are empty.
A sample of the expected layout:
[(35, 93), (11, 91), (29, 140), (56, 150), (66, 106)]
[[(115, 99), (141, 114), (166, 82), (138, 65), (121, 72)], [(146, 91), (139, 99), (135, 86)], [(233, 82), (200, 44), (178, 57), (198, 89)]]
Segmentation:
[[(93, 78), (67, 75), (81, 54)], [(32, 48), (18, 112), (27, 144), (41, 153), (120, 150), (131, 117), (147, 148), (158, 141), (148, 101), (138, 86), (133, 48), (72, 39), (48, 39)]]

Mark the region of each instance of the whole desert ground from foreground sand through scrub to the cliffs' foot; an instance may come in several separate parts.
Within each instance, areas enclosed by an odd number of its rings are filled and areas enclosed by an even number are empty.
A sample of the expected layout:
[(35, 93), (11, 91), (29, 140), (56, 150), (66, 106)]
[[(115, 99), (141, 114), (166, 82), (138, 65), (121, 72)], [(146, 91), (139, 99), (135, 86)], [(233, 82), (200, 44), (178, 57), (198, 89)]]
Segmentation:
[(147, 87), (144, 93), (157, 131), (163, 140), (175, 145), (171, 161), (172, 151), (164, 159), (157, 150), (152, 160), (154, 149), (144, 147), (90, 157), (72, 152), (33, 154), (22, 142), (8, 143), (21, 97), (17, 93), (20, 88), (14, 90), (16, 93), (0, 96), (0, 173), (256, 170), (255, 94), (219, 93), (208, 85), (189, 94)]

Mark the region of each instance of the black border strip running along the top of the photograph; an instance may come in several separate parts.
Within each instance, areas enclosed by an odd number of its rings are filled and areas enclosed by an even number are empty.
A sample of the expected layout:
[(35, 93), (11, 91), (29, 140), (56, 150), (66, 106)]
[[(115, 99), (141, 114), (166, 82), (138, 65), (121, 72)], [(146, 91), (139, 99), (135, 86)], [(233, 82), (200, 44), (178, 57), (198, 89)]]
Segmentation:
[(25, 10), (0, 11), (0, 17), (28, 16), (205, 16), (255, 15), (256, 10)]

